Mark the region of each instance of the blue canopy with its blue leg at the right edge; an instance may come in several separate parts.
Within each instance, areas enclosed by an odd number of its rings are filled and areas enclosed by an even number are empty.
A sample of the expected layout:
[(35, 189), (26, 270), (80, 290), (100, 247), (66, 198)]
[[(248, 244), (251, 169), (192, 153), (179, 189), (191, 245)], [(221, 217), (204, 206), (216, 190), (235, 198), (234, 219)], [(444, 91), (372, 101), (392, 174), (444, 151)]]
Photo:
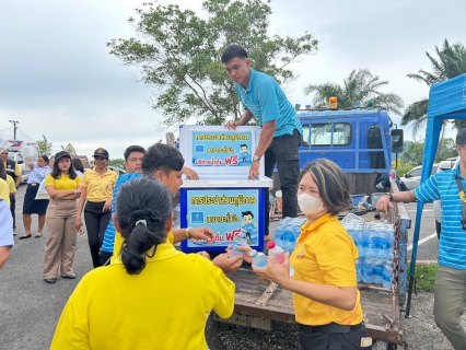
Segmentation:
[[(435, 159), (436, 148), (439, 145), (439, 136), (443, 119), (466, 119), (466, 74), (433, 84), (430, 88), (421, 183), (430, 176), (432, 164)], [(415, 234), (412, 237), (411, 266), (409, 268), (409, 290), (406, 317), (409, 317), (409, 310), (411, 306), (422, 208), (423, 203), (418, 201)]]

